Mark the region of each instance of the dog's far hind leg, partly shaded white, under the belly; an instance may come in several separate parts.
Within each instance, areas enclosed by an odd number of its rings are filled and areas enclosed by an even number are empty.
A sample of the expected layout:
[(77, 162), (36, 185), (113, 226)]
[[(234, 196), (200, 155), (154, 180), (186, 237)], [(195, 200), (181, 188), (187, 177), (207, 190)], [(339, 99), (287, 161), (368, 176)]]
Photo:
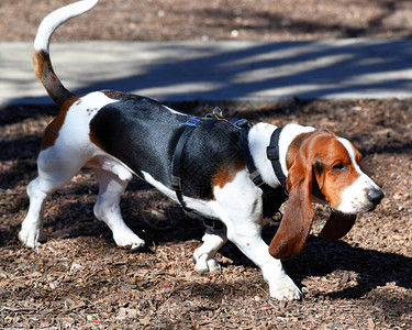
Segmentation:
[[(120, 165), (116, 165), (120, 166)], [(131, 175), (120, 177), (119, 173), (96, 168), (99, 180), (99, 196), (94, 205), (94, 216), (104, 221), (113, 233), (113, 240), (120, 248), (138, 250), (145, 242), (138, 238), (123, 221), (120, 211), (120, 198), (124, 193)], [(124, 168), (122, 168), (124, 174)]]

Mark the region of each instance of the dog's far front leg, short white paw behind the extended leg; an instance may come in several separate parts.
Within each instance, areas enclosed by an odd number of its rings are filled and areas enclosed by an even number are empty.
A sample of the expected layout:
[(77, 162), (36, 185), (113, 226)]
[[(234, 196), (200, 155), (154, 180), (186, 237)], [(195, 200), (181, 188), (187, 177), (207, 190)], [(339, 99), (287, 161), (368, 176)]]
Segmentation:
[(203, 244), (194, 250), (193, 260), (199, 272), (219, 272), (221, 266), (214, 258), (214, 254), (227, 241), (226, 227), (222, 229), (207, 229)]

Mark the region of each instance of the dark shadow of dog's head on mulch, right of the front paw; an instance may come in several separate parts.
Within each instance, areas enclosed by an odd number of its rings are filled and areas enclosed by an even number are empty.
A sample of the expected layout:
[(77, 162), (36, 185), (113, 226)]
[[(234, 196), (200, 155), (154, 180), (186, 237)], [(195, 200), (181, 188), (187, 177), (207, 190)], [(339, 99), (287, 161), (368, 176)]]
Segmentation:
[[(308, 276), (327, 276), (342, 271), (341, 289), (324, 294), (332, 299), (360, 298), (388, 283), (407, 289), (412, 288), (411, 257), (353, 246), (343, 240), (329, 242), (320, 237), (310, 235), (302, 253), (283, 265), (300, 286)], [(355, 273), (355, 286), (346, 285), (350, 279), (350, 273)]]

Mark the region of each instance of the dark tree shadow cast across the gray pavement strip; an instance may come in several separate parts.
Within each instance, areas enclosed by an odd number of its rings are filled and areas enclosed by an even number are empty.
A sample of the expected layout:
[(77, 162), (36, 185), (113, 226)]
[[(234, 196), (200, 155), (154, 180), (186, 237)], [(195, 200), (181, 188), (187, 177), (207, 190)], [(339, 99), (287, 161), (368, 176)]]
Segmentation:
[[(189, 44), (169, 45), (168, 48), (176, 47), (188, 54), (194, 51)], [(390, 54), (382, 53), (385, 48), (397, 51)], [(170, 63), (167, 64), (147, 65), (145, 73), (141, 75), (99, 81), (78, 90), (77, 94), (104, 88), (123, 91), (146, 90), (155, 95), (156, 90), (160, 90), (160, 100), (223, 101), (259, 99), (260, 92), (265, 90), (272, 90), (272, 94), (263, 95), (263, 99), (319, 99), (350, 92), (387, 92), (391, 89), (408, 91), (411, 88), (411, 79), (402, 77), (382, 80), (370, 78), (366, 79), (366, 84), (357, 82), (360, 76), (409, 69), (410, 63), (404, 61), (404, 56), (412, 55), (412, 43), (405, 45), (403, 41), (376, 41), (369, 46), (359, 42), (337, 47), (327, 42), (281, 42), (219, 52), (210, 46), (203, 52), (204, 55), (201, 57), (170, 58)], [(325, 64), (304, 65), (321, 63), (322, 58), (325, 59)], [(385, 66), (381, 65), (382, 61)], [(252, 73), (260, 70), (267, 70), (267, 74), (247, 78)], [(240, 78), (243, 76), (245, 78)], [(204, 90), (197, 87), (199, 84), (208, 88)], [(167, 91), (169, 87), (179, 85), (193, 88)], [(311, 85), (314, 87), (310, 87)]]

